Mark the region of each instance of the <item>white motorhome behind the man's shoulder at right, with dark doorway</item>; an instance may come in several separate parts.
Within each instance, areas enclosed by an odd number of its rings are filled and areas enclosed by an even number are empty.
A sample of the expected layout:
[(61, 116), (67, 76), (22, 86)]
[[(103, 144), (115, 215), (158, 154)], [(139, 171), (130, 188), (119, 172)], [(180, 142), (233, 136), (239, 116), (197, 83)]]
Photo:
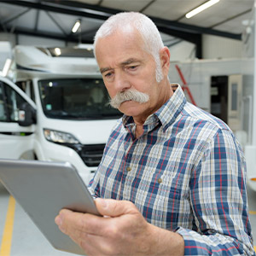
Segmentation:
[[(253, 113), (253, 58), (172, 62), (169, 78), (183, 85), (176, 66), (182, 71), (195, 104), (223, 119), (234, 131), (245, 150), (247, 184), (256, 191), (253, 163), (256, 148), (252, 146), (253, 119), (256, 119)], [(187, 98), (190, 100), (189, 95)]]

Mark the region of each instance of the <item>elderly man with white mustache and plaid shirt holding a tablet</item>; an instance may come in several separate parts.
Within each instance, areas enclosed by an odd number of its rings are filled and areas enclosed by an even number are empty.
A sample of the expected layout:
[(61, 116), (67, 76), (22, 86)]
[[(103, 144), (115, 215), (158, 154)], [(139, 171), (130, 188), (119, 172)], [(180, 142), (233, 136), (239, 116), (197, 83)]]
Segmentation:
[(88, 255), (253, 255), (241, 148), (170, 84), (169, 49), (152, 20), (113, 15), (95, 55), (124, 116), (90, 183), (104, 217), (61, 210), (61, 231)]

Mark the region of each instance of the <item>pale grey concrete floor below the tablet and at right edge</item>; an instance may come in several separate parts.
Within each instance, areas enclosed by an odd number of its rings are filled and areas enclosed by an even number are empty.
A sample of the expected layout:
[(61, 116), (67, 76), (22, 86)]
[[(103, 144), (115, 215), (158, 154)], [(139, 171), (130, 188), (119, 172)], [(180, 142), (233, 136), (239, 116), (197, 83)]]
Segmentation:
[[(247, 189), (251, 223), (254, 234), (254, 249), (256, 249), (256, 192)], [(15, 202), (15, 218), (13, 233), (10, 238), (11, 248), (9, 253), (3, 253), (3, 230), (6, 224), (7, 209), (9, 205), (9, 193), (0, 183), (0, 241), (2, 246), (0, 256), (71, 256), (73, 253), (65, 253), (55, 250), (47, 241), (26, 212)], [(5, 234), (5, 233), (4, 233)], [(5, 236), (5, 235), (4, 235)], [(7, 246), (8, 247), (8, 246)]]

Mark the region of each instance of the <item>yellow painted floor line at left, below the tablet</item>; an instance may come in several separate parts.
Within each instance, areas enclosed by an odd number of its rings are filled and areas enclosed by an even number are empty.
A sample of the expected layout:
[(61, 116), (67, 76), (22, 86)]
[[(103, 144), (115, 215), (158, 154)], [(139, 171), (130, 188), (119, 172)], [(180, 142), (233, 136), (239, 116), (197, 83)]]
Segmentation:
[(3, 230), (3, 238), (0, 248), (0, 256), (9, 256), (12, 245), (13, 227), (15, 220), (15, 199), (9, 196), (9, 205)]

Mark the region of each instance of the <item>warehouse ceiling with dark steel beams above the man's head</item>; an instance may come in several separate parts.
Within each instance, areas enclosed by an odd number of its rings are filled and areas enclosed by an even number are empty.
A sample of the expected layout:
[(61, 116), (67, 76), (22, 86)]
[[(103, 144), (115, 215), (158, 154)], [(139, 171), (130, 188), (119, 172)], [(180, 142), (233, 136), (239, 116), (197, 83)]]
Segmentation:
[[(0, 1), (0, 32), (25, 34), (66, 42), (91, 43), (96, 30), (110, 15), (138, 11), (159, 27), (166, 45), (180, 40), (196, 45), (202, 34), (241, 40), (250, 24), (253, 0), (220, 0), (199, 15), (185, 14), (204, 0), (77, 0), (77, 1)], [(81, 20), (78, 32), (71, 32)]]

